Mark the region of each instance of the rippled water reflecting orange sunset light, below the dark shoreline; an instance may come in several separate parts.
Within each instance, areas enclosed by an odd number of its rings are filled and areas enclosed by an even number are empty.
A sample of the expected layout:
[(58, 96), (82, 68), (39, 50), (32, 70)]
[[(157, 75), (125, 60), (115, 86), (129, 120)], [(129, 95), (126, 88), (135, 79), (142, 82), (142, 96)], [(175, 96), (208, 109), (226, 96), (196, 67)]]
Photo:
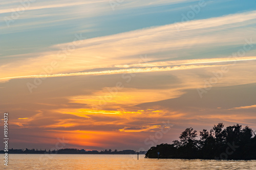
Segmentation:
[[(1, 157), (3, 158), (3, 154)], [(51, 157), (48, 157), (51, 156)], [(3, 159), (2, 159), (3, 160)], [(256, 160), (145, 159), (144, 155), (9, 155), (0, 169), (256, 169)], [(3, 168), (2, 168), (3, 167)]]

